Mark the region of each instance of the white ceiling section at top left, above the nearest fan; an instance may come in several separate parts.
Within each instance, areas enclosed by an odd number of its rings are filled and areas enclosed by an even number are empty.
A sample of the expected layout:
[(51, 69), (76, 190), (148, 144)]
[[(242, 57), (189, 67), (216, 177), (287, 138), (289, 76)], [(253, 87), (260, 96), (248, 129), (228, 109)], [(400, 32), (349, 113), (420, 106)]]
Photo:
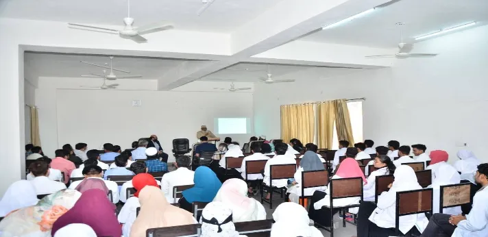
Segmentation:
[[(167, 21), (176, 29), (227, 33), (279, 1), (216, 0), (197, 16), (202, 0), (132, 0), (130, 16), (135, 26)], [(0, 0), (0, 17), (122, 27), (127, 0)]]

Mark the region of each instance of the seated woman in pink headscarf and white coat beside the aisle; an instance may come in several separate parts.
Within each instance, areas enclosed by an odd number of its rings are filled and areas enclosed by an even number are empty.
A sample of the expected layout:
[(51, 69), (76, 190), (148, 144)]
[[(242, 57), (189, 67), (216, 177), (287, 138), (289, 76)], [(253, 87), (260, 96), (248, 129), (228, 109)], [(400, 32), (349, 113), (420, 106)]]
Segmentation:
[[(357, 149), (350, 147), (346, 151), (346, 156), (356, 156), (357, 152)], [(361, 177), (363, 182), (367, 184), (367, 179), (365, 178), (363, 171), (361, 171), (359, 168), (358, 162), (354, 160), (354, 158), (345, 158), (345, 160), (343, 160), (338, 167), (339, 168), (334, 176), (332, 176), (332, 179)], [(345, 197), (343, 199), (335, 199), (334, 208), (343, 207), (345, 205), (359, 204), (359, 200), (361, 200), (360, 197)], [(308, 208), (308, 217), (310, 217), (310, 219), (324, 227), (330, 227), (330, 212), (332, 211), (332, 213), (336, 213), (339, 210), (322, 208), (324, 206), (330, 206), (330, 182), (325, 192), (322, 190), (317, 190), (313, 193), (310, 208)], [(354, 212), (354, 210), (350, 209), (350, 212)]]

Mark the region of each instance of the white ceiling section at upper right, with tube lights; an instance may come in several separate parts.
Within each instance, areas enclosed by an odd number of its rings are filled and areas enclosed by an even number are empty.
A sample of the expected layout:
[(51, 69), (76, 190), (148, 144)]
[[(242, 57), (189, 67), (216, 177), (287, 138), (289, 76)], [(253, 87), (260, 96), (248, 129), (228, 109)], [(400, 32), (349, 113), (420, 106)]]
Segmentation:
[(472, 21), (487, 23), (487, 0), (401, 0), (302, 40), (389, 48), (400, 42), (395, 23), (405, 23), (404, 37), (413, 38)]

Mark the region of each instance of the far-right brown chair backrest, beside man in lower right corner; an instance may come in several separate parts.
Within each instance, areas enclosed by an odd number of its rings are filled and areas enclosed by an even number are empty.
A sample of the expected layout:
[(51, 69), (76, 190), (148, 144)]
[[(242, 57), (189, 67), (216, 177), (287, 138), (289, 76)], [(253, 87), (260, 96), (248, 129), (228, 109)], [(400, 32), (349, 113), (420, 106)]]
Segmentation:
[(450, 184), (439, 187), (440, 201), (439, 213), (442, 213), (444, 208), (452, 208), (466, 203), (471, 203), (471, 184)]

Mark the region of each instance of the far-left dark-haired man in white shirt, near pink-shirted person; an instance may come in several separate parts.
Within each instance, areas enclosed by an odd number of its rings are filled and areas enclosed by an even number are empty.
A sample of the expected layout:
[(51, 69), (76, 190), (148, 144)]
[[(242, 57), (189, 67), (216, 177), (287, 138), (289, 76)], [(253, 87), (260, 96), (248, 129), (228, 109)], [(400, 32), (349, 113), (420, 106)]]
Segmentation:
[(66, 188), (62, 182), (49, 179), (49, 164), (36, 161), (29, 166), (29, 171), (34, 175), (30, 182), (36, 188), (37, 195), (47, 195)]

